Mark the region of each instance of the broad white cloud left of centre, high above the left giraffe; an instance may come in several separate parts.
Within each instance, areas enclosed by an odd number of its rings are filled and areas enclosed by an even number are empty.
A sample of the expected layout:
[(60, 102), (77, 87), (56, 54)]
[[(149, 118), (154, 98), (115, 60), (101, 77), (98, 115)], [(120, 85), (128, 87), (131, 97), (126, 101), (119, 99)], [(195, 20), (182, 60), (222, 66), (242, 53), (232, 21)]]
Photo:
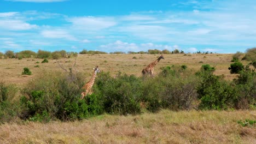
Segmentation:
[(99, 31), (117, 25), (110, 17), (73, 17), (67, 20), (72, 22), (72, 28), (86, 31)]

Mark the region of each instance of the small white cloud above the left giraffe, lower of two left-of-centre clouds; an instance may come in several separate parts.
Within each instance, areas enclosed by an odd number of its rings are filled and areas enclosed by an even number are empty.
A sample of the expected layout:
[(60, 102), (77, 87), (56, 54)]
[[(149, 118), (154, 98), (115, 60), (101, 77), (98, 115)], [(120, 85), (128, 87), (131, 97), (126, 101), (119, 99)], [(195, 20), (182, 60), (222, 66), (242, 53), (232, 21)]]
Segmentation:
[(67, 40), (73, 40), (76, 41), (77, 38), (75, 38), (73, 35), (69, 34), (67, 31), (63, 29), (56, 29), (56, 30), (44, 30), (41, 32), (41, 35), (45, 38), (57, 38), (57, 39), (67, 39)]

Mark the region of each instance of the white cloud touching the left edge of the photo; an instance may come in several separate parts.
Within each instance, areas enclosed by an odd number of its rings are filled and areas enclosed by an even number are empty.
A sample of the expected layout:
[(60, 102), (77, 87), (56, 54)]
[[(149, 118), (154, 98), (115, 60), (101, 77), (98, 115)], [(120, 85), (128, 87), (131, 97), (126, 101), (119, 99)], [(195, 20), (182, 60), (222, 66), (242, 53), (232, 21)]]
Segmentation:
[(0, 28), (8, 29), (11, 31), (22, 31), (37, 27), (37, 25), (31, 25), (30, 23), (21, 20), (0, 20)]

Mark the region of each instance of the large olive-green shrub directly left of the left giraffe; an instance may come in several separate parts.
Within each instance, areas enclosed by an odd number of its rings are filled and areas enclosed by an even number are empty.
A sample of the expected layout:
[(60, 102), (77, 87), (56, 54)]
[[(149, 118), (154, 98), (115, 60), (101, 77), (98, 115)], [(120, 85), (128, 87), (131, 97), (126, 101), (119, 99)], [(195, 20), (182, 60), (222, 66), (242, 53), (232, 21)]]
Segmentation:
[(22, 90), (21, 104), (24, 106), (22, 119), (48, 122), (82, 119), (90, 116), (88, 103), (80, 100), (84, 85), (81, 74), (58, 74), (44, 71), (30, 81)]

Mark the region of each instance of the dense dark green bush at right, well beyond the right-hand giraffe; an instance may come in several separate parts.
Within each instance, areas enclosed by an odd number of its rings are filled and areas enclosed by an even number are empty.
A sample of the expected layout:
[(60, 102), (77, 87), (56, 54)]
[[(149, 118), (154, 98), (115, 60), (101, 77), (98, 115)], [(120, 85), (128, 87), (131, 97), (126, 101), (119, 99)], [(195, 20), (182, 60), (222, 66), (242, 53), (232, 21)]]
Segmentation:
[(201, 103), (200, 109), (227, 109), (228, 106), (233, 107), (236, 99), (236, 91), (234, 87), (226, 81), (221, 81), (223, 78), (213, 75), (209, 71), (200, 71), (197, 73), (200, 77), (200, 85), (197, 87), (197, 93)]

